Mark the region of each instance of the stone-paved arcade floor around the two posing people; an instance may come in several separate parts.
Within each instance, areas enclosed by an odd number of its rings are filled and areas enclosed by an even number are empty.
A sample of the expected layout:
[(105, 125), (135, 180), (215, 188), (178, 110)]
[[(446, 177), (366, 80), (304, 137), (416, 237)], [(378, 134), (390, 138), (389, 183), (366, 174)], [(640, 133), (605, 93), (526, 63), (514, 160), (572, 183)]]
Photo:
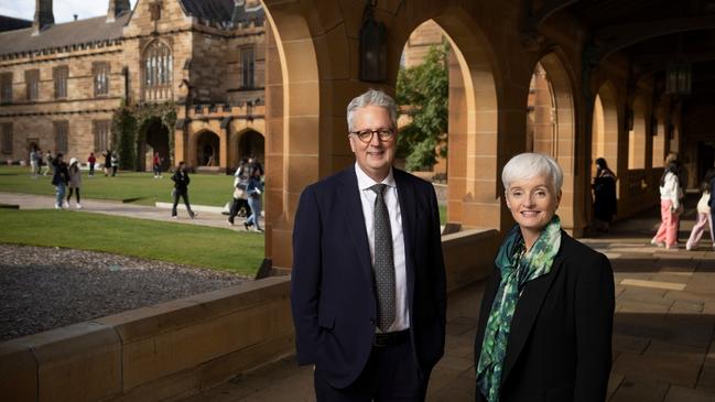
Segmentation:
[[(583, 239), (615, 271), (616, 316), (609, 401), (715, 401), (715, 252), (648, 245), (653, 210)], [(692, 227), (685, 216), (681, 238)], [(449, 295), (446, 355), (434, 369), (429, 401), (474, 401), (473, 344), (484, 283)], [(312, 369), (294, 357), (207, 390), (184, 402), (313, 401)]]

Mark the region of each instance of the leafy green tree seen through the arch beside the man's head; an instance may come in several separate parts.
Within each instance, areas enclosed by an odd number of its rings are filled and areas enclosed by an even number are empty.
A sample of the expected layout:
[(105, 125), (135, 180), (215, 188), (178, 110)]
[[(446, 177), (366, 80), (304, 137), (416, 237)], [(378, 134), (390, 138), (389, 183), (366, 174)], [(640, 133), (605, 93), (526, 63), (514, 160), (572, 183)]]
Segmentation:
[(446, 157), (448, 120), (449, 44), (430, 47), (424, 62), (398, 73), (397, 102), (410, 123), (398, 135), (398, 155), (409, 171), (432, 167), (437, 156)]

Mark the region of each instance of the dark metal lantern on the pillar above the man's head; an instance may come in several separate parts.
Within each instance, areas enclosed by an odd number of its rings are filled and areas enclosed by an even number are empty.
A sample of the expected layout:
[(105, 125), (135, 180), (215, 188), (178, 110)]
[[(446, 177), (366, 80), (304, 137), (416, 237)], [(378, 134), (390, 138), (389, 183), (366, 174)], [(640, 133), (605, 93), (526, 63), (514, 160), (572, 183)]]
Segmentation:
[(360, 80), (382, 83), (388, 77), (387, 29), (375, 20), (377, 0), (368, 0), (360, 26)]

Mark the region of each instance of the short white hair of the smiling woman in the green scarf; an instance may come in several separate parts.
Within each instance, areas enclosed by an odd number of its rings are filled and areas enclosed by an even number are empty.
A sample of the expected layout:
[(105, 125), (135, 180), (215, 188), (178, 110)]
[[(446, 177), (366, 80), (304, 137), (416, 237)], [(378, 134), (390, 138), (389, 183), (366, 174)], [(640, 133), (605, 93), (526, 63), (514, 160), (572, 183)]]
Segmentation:
[(553, 157), (542, 153), (526, 152), (510, 159), (501, 171), (501, 183), (505, 189), (509, 189), (513, 182), (528, 181), (539, 176), (549, 177), (556, 194), (561, 193), (564, 172)]

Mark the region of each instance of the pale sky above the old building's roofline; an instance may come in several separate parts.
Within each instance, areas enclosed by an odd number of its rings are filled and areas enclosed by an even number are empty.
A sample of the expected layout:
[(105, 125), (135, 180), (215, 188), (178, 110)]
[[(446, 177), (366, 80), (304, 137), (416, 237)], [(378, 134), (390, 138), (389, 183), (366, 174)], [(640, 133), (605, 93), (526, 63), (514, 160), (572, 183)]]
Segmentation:
[[(133, 9), (137, 0), (130, 0)], [(55, 23), (72, 21), (73, 14), (80, 20), (107, 15), (109, 0), (54, 0)], [(35, 15), (35, 0), (0, 0), (0, 15), (30, 20)]]

